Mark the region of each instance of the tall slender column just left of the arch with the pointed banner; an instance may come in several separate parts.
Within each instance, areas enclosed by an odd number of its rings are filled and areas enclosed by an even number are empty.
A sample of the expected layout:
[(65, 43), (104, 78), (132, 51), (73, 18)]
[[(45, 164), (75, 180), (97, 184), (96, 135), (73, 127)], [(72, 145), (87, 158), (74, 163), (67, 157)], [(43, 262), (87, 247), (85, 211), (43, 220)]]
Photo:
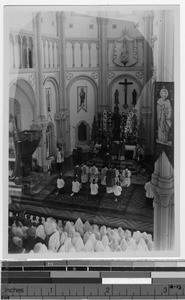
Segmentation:
[[(57, 13), (57, 24), (59, 33), (59, 110), (61, 118), (58, 120), (57, 138), (63, 141), (65, 156), (70, 152), (70, 124), (69, 124), (69, 107), (66, 95), (66, 43), (65, 43), (65, 14)], [(74, 64), (74, 61), (73, 61)]]

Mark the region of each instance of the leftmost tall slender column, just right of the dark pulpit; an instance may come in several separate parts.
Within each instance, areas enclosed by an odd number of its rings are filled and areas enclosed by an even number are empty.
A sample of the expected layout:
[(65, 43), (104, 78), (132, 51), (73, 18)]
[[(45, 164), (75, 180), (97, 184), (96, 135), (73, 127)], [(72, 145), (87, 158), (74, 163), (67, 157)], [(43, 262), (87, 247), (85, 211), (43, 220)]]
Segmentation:
[(34, 38), (35, 38), (35, 59), (36, 59), (36, 100), (38, 104), (37, 118), (42, 128), (42, 139), (38, 150), (39, 163), (47, 172), (46, 162), (46, 127), (47, 120), (44, 115), (44, 91), (43, 91), (43, 66), (42, 66), (42, 37), (41, 37), (41, 14), (37, 13), (33, 18)]

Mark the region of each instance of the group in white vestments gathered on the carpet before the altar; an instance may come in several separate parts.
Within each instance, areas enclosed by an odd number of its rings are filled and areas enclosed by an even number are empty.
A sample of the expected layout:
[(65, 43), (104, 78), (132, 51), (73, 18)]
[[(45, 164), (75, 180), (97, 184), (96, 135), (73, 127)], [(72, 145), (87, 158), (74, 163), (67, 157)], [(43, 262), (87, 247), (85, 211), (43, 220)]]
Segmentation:
[[(83, 184), (89, 182), (91, 195), (97, 195), (99, 184), (102, 184), (106, 186), (108, 194), (113, 193), (115, 195), (115, 201), (117, 201), (121, 196), (123, 187), (130, 186), (131, 175), (131, 171), (127, 167), (122, 171), (110, 167), (104, 167), (99, 171), (96, 165), (92, 167), (88, 167), (86, 164), (82, 166), (76, 165), (71, 196), (78, 194)], [(60, 174), (57, 179), (57, 194), (62, 194), (64, 186), (65, 182)]]

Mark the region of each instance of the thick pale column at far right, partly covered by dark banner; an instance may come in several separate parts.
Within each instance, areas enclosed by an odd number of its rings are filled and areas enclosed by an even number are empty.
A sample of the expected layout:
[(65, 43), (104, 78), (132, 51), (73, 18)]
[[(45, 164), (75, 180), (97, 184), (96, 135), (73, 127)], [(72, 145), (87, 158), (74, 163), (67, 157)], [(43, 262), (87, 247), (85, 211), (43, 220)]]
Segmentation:
[[(155, 55), (157, 81), (173, 81), (173, 24), (173, 11), (159, 12), (156, 41), (157, 54)], [(177, 146), (176, 149), (178, 148)], [(174, 174), (173, 167), (165, 152), (160, 154), (155, 163), (155, 171), (152, 175), (152, 189), (154, 190), (154, 203), (158, 202), (159, 205), (159, 210), (154, 208), (155, 248), (156, 250), (173, 250), (175, 246)]]

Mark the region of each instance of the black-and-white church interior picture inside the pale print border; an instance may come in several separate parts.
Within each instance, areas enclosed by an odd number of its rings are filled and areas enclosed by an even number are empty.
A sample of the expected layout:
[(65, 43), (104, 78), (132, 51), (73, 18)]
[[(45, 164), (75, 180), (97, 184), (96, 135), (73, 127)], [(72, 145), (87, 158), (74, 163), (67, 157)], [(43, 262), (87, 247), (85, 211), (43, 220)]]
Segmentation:
[(173, 251), (177, 12), (53, 8), (6, 12), (8, 252)]

